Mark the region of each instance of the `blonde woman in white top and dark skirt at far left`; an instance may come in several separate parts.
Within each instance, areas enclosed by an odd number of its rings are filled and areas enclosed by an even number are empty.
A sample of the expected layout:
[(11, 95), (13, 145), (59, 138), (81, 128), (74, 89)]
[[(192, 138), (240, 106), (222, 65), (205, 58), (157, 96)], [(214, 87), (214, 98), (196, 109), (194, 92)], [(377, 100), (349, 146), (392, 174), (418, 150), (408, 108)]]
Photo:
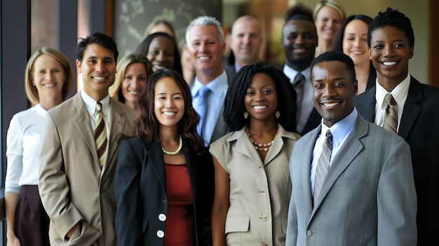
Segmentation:
[(25, 90), (32, 107), (13, 116), (6, 137), (7, 245), (49, 245), (37, 186), (41, 135), (48, 109), (64, 101), (72, 86), (72, 67), (60, 51), (44, 47), (29, 58)]

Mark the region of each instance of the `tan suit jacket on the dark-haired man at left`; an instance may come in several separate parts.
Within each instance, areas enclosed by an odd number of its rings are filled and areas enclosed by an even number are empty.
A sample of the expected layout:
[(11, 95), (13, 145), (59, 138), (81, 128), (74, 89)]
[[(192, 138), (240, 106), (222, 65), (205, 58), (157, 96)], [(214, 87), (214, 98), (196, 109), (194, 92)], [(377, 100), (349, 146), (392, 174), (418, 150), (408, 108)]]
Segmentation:
[[(117, 245), (113, 180), (121, 134), (133, 135), (135, 111), (110, 100), (107, 162), (97, 158), (94, 130), (80, 93), (48, 111), (40, 153), (39, 193), (50, 217), (50, 245)], [(65, 235), (78, 229), (67, 242)]]

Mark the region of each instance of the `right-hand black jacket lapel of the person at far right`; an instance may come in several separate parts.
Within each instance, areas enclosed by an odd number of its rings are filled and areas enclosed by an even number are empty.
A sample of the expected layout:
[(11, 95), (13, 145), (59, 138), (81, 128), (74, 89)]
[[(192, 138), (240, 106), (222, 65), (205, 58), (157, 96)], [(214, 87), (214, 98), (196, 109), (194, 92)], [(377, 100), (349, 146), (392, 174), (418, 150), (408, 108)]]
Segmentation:
[(414, 121), (416, 121), (419, 113), (421, 112), (421, 107), (417, 104), (424, 99), (422, 95), (421, 83), (415, 78), (410, 78), (409, 93), (407, 95), (407, 100), (405, 100), (403, 116), (401, 116), (401, 121), (398, 129), (398, 135), (407, 139), (407, 136), (412, 130)]

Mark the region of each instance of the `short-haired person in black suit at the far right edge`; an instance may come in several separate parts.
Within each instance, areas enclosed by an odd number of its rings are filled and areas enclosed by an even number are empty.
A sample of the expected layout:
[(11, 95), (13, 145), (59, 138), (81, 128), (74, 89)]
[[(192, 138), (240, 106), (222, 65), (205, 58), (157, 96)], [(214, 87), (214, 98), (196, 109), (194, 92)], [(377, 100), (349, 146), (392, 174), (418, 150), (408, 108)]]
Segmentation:
[[(414, 34), (410, 19), (387, 8), (370, 23), (369, 57), (377, 83), (355, 98), (358, 112), (386, 128), (386, 97), (393, 97), (393, 132), (410, 145), (417, 191), (417, 245), (439, 245), (439, 90), (419, 83), (408, 72)], [(389, 100), (390, 102), (391, 100)]]

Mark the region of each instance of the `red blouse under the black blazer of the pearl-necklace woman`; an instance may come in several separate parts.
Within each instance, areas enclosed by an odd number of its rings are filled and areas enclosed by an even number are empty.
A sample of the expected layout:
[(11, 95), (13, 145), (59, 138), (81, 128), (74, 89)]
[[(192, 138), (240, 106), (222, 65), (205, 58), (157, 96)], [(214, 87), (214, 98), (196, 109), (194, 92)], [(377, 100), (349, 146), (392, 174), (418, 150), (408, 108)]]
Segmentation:
[(164, 246), (194, 246), (194, 208), (187, 165), (165, 164), (166, 215)]

